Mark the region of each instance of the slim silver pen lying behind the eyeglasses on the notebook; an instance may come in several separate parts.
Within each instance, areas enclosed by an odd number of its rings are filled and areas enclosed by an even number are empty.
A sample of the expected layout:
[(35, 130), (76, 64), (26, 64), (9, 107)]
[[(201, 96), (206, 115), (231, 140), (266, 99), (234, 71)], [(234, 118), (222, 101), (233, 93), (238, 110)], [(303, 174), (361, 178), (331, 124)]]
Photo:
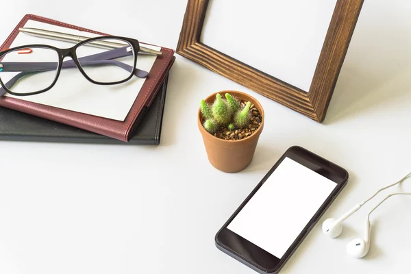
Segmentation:
[[(79, 36), (74, 34), (64, 34), (62, 32), (52, 32), (50, 30), (45, 29), (35, 29), (32, 27), (20, 27), (18, 29), (23, 34), (29, 34), (31, 36), (41, 37), (41, 38), (48, 38), (51, 40), (58, 40), (64, 42), (73, 42), (78, 43), (84, 40), (89, 39), (90, 37), (86, 36)], [(108, 41), (93, 41), (88, 43), (88, 45), (93, 47), (99, 47), (103, 49), (119, 49), (121, 47), (127, 47), (125, 44), (116, 43), (116, 42), (108, 42)], [(141, 53), (147, 53), (151, 55), (162, 55), (161, 51), (155, 51), (154, 49), (149, 49), (147, 47), (140, 47)]]

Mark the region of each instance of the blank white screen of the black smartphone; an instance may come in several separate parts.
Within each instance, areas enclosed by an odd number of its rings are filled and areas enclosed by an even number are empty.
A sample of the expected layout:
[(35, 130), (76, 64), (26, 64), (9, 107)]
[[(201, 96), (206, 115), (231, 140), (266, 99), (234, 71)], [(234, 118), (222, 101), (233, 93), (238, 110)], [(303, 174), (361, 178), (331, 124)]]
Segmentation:
[(227, 229), (282, 258), (336, 186), (284, 158)]

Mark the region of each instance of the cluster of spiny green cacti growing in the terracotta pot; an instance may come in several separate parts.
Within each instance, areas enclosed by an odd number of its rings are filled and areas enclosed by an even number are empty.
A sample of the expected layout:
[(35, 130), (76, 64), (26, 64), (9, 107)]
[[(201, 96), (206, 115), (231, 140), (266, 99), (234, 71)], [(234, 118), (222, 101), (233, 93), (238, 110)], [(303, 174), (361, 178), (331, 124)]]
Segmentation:
[(229, 93), (225, 93), (225, 99), (217, 93), (212, 105), (201, 100), (200, 111), (204, 118), (203, 127), (211, 134), (217, 132), (221, 127), (226, 127), (229, 131), (247, 127), (250, 122), (250, 106), (251, 103), (247, 102), (241, 110), (240, 102)]

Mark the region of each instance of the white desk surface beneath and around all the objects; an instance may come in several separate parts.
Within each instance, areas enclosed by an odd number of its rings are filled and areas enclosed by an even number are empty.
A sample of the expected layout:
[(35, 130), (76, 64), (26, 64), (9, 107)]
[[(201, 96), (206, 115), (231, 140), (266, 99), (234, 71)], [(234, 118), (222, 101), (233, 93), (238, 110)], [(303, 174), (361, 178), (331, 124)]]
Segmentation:
[[(186, 9), (186, 1), (70, 2), (2, 1), (0, 40), (32, 13), (175, 49)], [(0, 273), (251, 274), (216, 249), (214, 235), (292, 145), (350, 179), (281, 273), (408, 273), (409, 197), (372, 215), (362, 260), (345, 246), (362, 236), (377, 200), (338, 239), (325, 238), (321, 223), (411, 171), (410, 13), (406, 0), (364, 3), (323, 124), (177, 55), (158, 147), (0, 142)], [(250, 92), (266, 112), (255, 158), (236, 174), (210, 166), (196, 121), (199, 99), (226, 89)]]

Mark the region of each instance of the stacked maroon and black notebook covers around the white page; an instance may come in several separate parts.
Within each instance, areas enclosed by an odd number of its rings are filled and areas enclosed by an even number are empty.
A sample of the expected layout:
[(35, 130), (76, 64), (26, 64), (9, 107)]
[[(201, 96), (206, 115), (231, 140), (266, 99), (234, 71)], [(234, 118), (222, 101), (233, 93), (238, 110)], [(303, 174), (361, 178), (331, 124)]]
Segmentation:
[[(64, 27), (72, 32), (107, 35), (49, 18), (27, 15), (5, 40), (0, 51), (16, 46), (16, 37), (22, 35), (18, 32), (20, 27), (38, 27), (40, 24), (41, 27), (46, 25), (44, 28), (49, 25), (49, 29), (57, 27), (60, 30)], [(27, 97), (4, 96), (0, 98), (0, 140), (158, 145), (169, 71), (175, 60), (172, 49), (158, 49), (162, 55), (155, 58), (149, 77), (137, 90), (136, 98), (124, 117), (112, 118), (45, 104)]]

